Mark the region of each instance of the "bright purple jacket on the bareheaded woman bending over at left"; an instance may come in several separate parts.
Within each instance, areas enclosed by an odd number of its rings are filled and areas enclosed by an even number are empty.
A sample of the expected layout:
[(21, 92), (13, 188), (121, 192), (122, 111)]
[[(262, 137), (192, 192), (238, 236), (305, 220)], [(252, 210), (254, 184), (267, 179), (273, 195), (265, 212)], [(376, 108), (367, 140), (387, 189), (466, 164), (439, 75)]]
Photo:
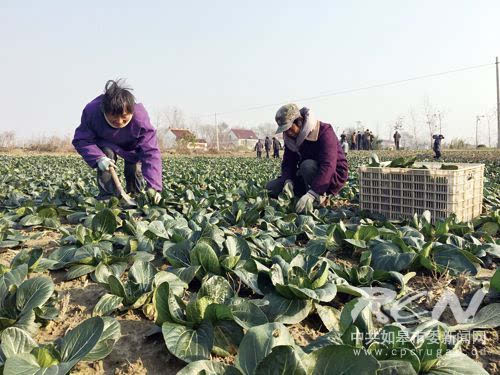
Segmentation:
[(85, 106), (82, 121), (76, 128), (73, 146), (91, 168), (97, 159), (106, 156), (102, 147), (111, 148), (130, 163), (141, 162), (142, 174), (147, 184), (162, 190), (161, 153), (156, 140), (156, 130), (149, 121), (148, 113), (140, 103), (134, 107), (134, 115), (128, 125), (115, 129), (108, 125), (101, 110), (103, 95)]

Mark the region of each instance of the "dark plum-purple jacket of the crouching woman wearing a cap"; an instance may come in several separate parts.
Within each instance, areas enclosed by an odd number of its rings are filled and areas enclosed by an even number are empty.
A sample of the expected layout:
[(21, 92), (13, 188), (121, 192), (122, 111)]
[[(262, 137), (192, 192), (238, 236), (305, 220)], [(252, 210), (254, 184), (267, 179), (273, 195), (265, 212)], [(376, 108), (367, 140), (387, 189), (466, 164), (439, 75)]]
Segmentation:
[(348, 176), (347, 160), (330, 124), (320, 122), (319, 129), (311, 132), (298, 153), (285, 145), (281, 178), (294, 180), (299, 164), (306, 159), (318, 162), (318, 174), (311, 184), (315, 193), (337, 194), (342, 189)]

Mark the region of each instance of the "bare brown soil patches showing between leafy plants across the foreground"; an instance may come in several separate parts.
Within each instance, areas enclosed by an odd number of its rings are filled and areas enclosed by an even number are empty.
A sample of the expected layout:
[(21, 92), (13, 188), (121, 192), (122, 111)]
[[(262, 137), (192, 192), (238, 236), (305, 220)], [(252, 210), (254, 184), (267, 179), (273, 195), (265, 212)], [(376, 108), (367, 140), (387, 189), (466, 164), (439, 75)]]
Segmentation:
[[(7, 249), (1, 253), (0, 263), (9, 265), (12, 258), (21, 248), (42, 247), (46, 255), (57, 248), (61, 235), (50, 230), (23, 231), (29, 239), (15, 250)], [(346, 267), (357, 265), (357, 261), (343, 251), (331, 254), (339, 264)], [(491, 273), (491, 272), (490, 272)], [(75, 280), (65, 280), (65, 271), (47, 273), (55, 285), (59, 298), (60, 315), (39, 330), (36, 340), (41, 343), (51, 342), (79, 323), (92, 316), (92, 309), (105, 293), (105, 289), (92, 282), (87, 276)], [(476, 280), (488, 279), (490, 274), (477, 275)], [(409, 282), (413, 291), (426, 290), (428, 296), (417, 301), (422, 307), (429, 309), (439, 299), (445, 290), (458, 292), (465, 298), (473, 290), (468, 279), (455, 278), (447, 274), (419, 275)], [(339, 301), (340, 302), (340, 301)], [(345, 301), (343, 301), (345, 302)], [(340, 307), (340, 306), (336, 306)], [(172, 356), (165, 347), (161, 334), (149, 336), (154, 323), (141, 312), (128, 311), (115, 315), (120, 321), (121, 338), (115, 344), (113, 351), (101, 361), (81, 362), (71, 372), (81, 375), (131, 375), (131, 374), (176, 374), (185, 364)], [(443, 321), (455, 324), (449, 309), (443, 314)], [(308, 318), (301, 324), (289, 327), (290, 333), (297, 344), (304, 346), (326, 332), (319, 319)], [(499, 330), (487, 331), (485, 343), (476, 342), (464, 347), (464, 352), (471, 358), (482, 363), (490, 373), (500, 373)], [(228, 364), (234, 363), (234, 357), (214, 357), (214, 360)]]

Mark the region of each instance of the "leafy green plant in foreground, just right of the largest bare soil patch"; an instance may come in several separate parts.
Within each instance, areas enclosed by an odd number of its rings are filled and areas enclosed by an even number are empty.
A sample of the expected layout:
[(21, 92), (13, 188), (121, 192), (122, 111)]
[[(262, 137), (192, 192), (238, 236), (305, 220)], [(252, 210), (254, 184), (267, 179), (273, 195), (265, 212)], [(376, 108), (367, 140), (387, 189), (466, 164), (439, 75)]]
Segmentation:
[(205, 277), (187, 301), (165, 281), (156, 288), (153, 303), (167, 349), (185, 362), (208, 359), (211, 352), (234, 354), (244, 328), (267, 322), (259, 301), (237, 297), (220, 276)]

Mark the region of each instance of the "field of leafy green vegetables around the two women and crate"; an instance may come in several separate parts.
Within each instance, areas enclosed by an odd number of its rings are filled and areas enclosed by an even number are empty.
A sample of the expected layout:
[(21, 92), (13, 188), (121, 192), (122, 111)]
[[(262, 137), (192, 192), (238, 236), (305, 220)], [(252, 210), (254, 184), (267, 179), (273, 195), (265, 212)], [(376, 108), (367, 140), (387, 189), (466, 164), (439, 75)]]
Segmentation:
[(486, 165), (483, 214), (434, 225), (360, 211), (348, 160), (297, 215), (274, 160), (169, 157), (126, 209), (76, 156), (0, 155), (0, 373), (500, 373), (500, 154), (444, 153)]

